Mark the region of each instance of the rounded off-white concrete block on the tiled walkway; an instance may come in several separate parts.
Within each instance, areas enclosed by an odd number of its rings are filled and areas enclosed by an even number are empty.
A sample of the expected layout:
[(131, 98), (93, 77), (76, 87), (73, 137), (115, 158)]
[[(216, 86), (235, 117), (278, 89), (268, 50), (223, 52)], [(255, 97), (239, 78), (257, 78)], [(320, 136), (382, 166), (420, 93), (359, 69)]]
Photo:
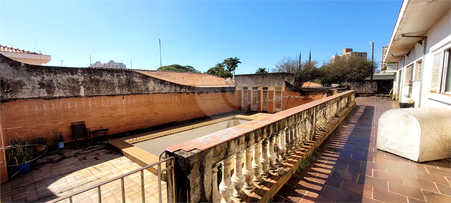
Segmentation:
[(450, 158), (451, 110), (388, 110), (379, 118), (376, 147), (416, 162)]

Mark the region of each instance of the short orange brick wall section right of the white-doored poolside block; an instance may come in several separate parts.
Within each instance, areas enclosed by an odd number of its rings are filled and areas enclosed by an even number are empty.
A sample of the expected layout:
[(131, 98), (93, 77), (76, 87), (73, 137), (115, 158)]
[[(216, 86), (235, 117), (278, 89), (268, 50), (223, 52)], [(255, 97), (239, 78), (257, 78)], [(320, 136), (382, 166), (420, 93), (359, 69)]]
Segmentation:
[[(327, 91), (307, 92), (305, 95), (301, 95), (300, 92), (283, 91), (282, 96), (283, 97), (289, 96), (290, 98), (282, 99), (282, 110), (293, 108), (299, 105), (303, 105), (321, 99), (323, 98), (323, 95), (326, 94), (326, 92)], [(294, 98), (291, 96), (294, 96)], [(299, 96), (303, 96), (304, 98), (295, 98)]]

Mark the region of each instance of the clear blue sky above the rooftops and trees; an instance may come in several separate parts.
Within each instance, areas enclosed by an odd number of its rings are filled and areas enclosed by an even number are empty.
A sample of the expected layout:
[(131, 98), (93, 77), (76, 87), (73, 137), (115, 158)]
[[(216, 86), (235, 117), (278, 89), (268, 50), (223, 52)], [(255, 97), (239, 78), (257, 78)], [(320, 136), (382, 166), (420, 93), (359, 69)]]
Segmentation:
[[(122, 62), (133, 69), (190, 65), (205, 72), (238, 57), (236, 74), (284, 57), (320, 63), (343, 48), (374, 59), (402, 1), (3, 1), (0, 44), (51, 55), (48, 66)], [(35, 47), (36, 44), (36, 47)]]

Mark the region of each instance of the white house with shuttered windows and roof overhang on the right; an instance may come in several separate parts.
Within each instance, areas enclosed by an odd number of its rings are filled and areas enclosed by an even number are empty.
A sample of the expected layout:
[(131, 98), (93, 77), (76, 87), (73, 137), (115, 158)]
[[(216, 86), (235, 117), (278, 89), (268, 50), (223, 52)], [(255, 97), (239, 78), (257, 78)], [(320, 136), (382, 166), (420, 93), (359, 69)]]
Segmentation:
[(451, 4), (402, 4), (383, 63), (397, 65), (393, 92), (414, 107), (451, 109)]

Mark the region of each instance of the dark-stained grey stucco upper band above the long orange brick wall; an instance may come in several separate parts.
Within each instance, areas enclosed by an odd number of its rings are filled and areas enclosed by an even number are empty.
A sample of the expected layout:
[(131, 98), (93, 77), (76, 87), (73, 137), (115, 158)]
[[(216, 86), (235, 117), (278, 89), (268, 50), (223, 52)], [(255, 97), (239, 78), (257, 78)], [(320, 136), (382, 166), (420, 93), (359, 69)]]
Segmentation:
[[(1, 56), (0, 99), (135, 95), (173, 92), (235, 91), (235, 87), (190, 87), (127, 69), (35, 66)], [(5, 93), (11, 89), (12, 94)]]

